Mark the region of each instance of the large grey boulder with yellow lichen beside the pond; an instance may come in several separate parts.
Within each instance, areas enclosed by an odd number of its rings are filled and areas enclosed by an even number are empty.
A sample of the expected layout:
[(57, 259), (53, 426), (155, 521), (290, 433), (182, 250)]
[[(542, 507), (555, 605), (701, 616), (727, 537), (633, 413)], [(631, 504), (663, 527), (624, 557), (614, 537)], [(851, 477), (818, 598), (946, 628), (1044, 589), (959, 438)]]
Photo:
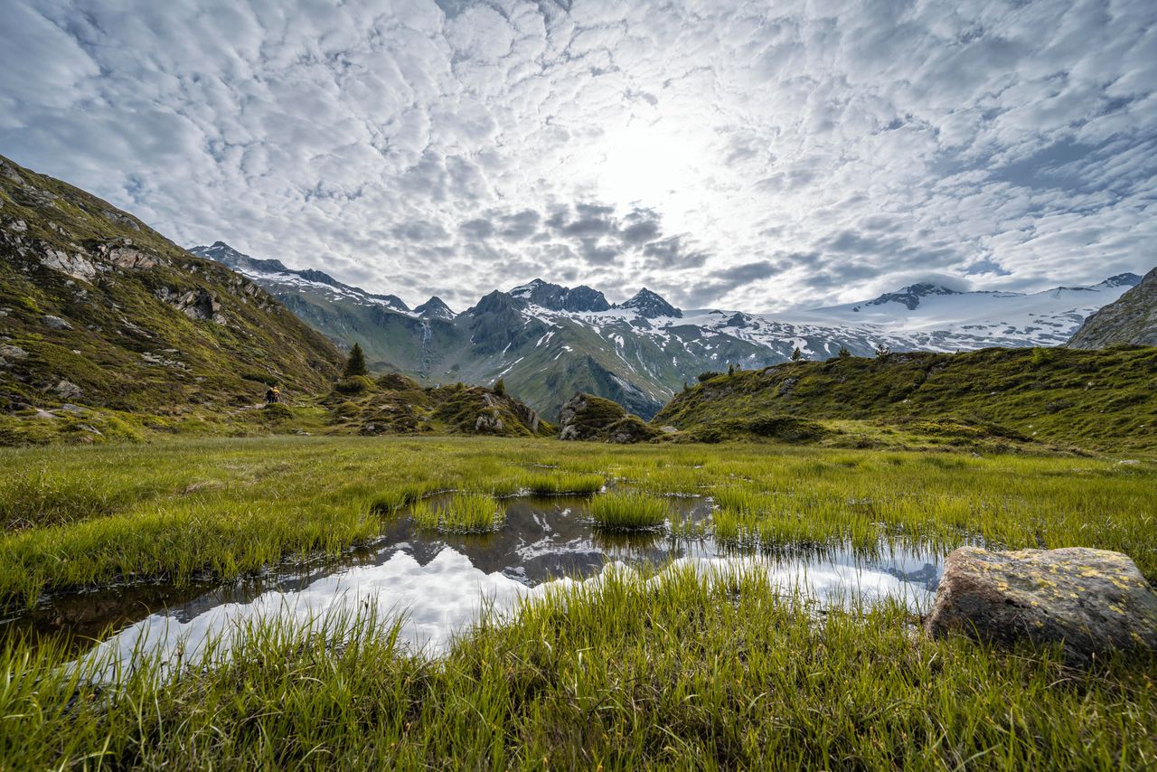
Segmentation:
[(1120, 552), (966, 546), (948, 557), (926, 626), (934, 638), (955, 631), (1004, 646), (1063, 644), (1068, 663), (1089, 664), (1114, 652), (1157, 652), (1157, 593)]

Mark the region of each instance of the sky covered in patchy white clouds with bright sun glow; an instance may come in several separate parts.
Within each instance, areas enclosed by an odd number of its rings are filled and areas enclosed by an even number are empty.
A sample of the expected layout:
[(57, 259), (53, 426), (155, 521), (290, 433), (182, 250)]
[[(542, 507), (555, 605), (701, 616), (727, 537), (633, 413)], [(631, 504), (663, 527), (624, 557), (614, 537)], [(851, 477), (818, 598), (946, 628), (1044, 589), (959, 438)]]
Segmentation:
[(0, 154), (458, 309), (1141, 273), (1155, 88), (1154, 0), (0, 3)]

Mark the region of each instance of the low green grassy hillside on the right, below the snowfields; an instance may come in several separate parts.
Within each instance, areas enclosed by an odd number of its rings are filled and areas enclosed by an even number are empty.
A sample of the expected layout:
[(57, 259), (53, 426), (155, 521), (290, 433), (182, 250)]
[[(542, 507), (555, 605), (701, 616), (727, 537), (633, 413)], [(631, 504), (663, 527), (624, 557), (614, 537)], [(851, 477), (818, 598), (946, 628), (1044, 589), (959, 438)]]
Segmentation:
[(986, 348), (789, 362), (710, 378), (676, 396), (654, 422), (692, 436), (739, 435), (751, 433), (753, 420), (775, 418), (868, 420), (923, 435), (1152, 450), (1157, 348)]

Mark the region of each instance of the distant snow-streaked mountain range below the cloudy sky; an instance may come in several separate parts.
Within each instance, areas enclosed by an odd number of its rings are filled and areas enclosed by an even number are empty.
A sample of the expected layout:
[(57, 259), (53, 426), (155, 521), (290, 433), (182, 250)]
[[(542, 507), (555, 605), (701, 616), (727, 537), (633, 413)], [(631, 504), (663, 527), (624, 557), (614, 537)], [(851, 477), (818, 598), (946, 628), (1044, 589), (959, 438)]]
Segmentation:
[(373, 367), (425, 383), (506, 387), (548, 419), (577, 392), (651, 418), (705, 372), (827, 359), (846, 347), (972, 351), (1057, 346), (1086, 317), (1141, 282), (1122, 273), (1092, 286), (1039, 293), (959, 292), (916, 284), (846, 306), (752, 314), (676, 308), (643, 288), (622, 303), (598, 289), (535, 279), (494, 291), (455, 314), (437, 297), (410, 308), (315, 270), (255, 259), (223, 242), (193, 247), (242, 273), (339, 345), (358, 343)]

